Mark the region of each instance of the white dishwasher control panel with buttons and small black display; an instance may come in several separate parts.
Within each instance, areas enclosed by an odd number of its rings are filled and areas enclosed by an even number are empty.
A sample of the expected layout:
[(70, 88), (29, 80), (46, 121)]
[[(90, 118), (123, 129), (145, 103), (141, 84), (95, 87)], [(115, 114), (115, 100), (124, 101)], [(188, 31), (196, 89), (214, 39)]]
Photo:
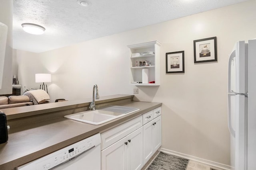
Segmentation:
[(18, 167), (17, 170), (49, 170), (93, 149), (95, 146), (99, 145), (100, 142), (100, 133), (98, 133), (37, 160), (24, 164), (23, 166)]

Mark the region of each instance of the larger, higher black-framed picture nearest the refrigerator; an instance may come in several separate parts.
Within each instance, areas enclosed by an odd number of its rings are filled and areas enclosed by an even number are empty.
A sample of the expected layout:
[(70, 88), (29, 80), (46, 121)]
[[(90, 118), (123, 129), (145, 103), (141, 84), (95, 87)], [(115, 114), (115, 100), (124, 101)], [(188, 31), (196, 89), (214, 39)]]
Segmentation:
[(194, 40), (194, 63), (217, 61), (217, 37)]

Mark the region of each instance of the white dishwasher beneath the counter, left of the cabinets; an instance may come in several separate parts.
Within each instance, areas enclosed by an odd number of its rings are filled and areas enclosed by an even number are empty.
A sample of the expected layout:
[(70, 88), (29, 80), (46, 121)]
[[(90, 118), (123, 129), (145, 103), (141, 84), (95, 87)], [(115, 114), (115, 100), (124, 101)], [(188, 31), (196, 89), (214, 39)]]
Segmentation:
[(98, 133), (16, 170), (100, 170), (100, 142)]

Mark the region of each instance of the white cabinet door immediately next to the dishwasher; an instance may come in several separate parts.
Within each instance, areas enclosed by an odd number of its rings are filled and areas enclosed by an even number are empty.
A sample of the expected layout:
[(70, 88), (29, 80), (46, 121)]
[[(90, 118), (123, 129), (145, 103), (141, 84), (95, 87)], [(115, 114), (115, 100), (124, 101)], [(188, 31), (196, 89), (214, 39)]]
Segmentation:
[(126, 137), (120, 139), (113, 145), (101, 151), (101, 169), (102, 170), (126, 170), (127, 156), (125, 144)]

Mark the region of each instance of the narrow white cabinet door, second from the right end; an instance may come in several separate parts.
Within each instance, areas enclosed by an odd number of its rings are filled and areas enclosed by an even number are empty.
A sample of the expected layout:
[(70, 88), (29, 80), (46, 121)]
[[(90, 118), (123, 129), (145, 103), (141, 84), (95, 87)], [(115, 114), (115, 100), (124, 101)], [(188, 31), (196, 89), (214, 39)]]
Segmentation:
[(153, 121), (143, 125), (143, 162), (146, 164), (153, 155)]

